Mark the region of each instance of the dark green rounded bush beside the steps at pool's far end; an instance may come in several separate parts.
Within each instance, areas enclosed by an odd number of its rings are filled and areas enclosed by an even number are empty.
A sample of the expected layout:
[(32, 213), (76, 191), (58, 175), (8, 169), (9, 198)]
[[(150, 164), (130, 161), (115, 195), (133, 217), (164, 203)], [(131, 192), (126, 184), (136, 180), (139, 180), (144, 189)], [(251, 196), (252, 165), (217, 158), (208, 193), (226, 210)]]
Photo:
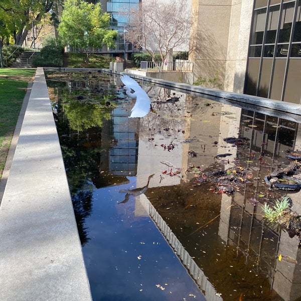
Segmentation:
[(47, 45), (33, 61), (33, 67), (62, 67), (63, 48), (61, 46)]

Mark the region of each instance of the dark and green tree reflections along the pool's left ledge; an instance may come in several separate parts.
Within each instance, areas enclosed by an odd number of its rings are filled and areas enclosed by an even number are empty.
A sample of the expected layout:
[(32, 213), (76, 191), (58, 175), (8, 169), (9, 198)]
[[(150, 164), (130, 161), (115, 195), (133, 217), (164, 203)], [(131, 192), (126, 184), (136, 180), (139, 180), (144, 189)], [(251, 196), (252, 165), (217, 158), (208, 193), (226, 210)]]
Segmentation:
[(99, 174), (100, 155), (105, 151), (101, 127), (110, 119), (110, 101), (116, 97), (115, 89), (108, 84), (106, 89), (103, 87), (72, 82), (54, 95), (57, 130), (82, 245), (89, 240), (84, 223), (92, 212), (91, 181)]

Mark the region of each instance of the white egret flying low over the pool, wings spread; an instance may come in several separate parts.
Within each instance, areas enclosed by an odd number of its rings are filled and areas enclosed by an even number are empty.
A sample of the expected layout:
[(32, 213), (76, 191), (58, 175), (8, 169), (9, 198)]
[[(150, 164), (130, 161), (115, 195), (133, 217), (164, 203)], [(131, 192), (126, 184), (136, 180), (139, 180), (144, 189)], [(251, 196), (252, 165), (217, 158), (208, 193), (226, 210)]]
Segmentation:
[[(139, 86), (139, 84), (127, 75), (120, 76), (121, 81), (125, 85), (125, 93), (132, 99), (136, 99), (136, 103), (131, 109), (129, 117), (144, 117), (150, 110), (150, 98), (147, 93)], [(134, 91), (134, 93), (131, 92)]]

